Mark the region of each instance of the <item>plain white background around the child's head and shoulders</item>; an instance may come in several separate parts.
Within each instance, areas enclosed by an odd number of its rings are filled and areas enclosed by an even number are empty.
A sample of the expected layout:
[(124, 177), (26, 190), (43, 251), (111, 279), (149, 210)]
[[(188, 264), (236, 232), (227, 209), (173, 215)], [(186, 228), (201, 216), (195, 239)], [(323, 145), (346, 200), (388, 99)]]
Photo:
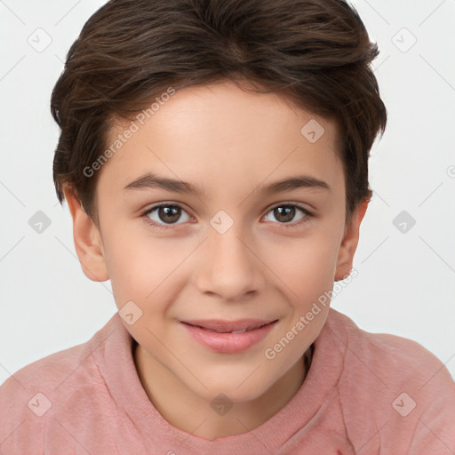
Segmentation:
[[(82, 272), (68, 206), (52, 182), (52, 87), (101, 4), (0, 0), (0, 383), (90, 339), (116, 312), (110, 282)], [(358, 276), (332, 306), (366, 331), (418, 341), (455, 376), (455, 0), (353, 4), (379, 44), (374, 68), (388, 125), (371, 154)], [(52, 38), (43, 52), (28, 44), (36, 34), (41, 44)], [(41, 234), (28, 224), (38, 211), (51, 220)], [(393, 223), (403, 211), (416, 221), (405, 233)]]

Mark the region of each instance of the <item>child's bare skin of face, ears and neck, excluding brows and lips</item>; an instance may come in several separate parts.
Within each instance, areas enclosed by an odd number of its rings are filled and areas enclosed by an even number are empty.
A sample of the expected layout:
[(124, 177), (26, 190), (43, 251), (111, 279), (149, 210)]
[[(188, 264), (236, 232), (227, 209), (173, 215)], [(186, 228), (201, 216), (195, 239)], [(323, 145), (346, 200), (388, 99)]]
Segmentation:
[[(310, 119), (325, 129), (314, 144), (300, 133)], [(124, 128), (119, 122), (108, 143)], [(352, 269), (368, 203), (347, 225), (338, 144), (336, 124), (275, 93), (246, 92), (231, 82), (189, 87), (100, 169), (100, 228), (66, 189), (84, 274), (110, 279), (119, 309), (133, 301), (142, 311), (135, 323), (125, 323), (138, 342), (134, 362), (151, 402), (174, 427), (210, 440), (243, 434), (299, 390), (306, 375), (302, 355), (322, 330), (329, 306), (273, 360), (264, 352)], [(124, 189), (145, 172), (188, 181), (205, 194)], [(323, 180), (331, 190), (259, 195), (260, 185), (298, 174)], [(170, 222), (157, 210), (143, 215), (161, 202), (179, 204), (180, 218)], [(311, 215), (296, 208), (291, 221), (299, 224), (286, 226), (273, 209), (289, 204)], [(210, 224), (220, 210), (234, 221), (224, 234)], [(153, 228), (147, 219), (168, 228)], [(246, 317), (279, 321), (265, 340), (238, 354), (212, 352), (180, 323)], [(211, 406), (220, 393), (233, 403), (224, 415)]]

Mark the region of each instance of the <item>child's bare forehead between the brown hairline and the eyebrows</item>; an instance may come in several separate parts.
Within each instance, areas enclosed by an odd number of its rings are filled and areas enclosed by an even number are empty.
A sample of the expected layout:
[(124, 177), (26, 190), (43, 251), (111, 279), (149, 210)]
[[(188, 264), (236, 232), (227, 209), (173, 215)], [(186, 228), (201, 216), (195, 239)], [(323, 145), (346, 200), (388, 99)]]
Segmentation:
[(134, 127), (118, 120), (110, 130), (107, 147), (115, 153), (101, 167), (99, 185), (124, 188), (145, 172), (240, 194), (296, 172), (335, 186), (344, 180), (337, 124), (276, 93), (231, 82), (188, 87), (138, 116)]

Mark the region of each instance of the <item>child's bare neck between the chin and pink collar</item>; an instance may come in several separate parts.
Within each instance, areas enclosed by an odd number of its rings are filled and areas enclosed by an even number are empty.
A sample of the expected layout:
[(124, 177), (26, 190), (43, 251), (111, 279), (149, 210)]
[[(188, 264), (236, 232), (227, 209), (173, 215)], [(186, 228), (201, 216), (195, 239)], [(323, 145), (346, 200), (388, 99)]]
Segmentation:
[(137, 344), (133, 356), (142, 386), (163, 418), (182, 431), (213, 440), (251, 431), (289, 403), (307, 377), (313, 350), (313, 346), (308, 347), (305, 355), (263, 395), (248, 402), (233, 403), (221, 415), (213, 411), (212, 402), (196, 395)]

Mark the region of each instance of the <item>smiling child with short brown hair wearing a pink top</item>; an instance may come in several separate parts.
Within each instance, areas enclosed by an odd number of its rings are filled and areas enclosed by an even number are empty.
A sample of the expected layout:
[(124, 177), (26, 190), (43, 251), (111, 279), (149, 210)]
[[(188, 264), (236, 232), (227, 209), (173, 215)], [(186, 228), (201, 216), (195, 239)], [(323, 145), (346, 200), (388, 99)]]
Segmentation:
[(53, 176), (119, 311), (4, 382), (2, 455), (455, 453), (443, 363), (330, 308), (386, 127), (377, 55), (342, 0), (111, 0), (87, 21), (52, 92)]

